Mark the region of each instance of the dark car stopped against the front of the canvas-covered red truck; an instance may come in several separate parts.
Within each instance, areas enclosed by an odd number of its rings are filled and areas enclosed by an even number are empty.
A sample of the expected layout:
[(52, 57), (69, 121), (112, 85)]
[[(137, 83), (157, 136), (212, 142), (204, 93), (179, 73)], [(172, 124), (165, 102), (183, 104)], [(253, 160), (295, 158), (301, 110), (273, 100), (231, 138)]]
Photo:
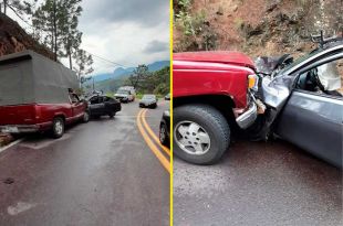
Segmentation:
[(117, 111), (122, 110), (122, 105), (112, 97), (96, 95), (89, 98), (89, 109), (91, 117), (110, 116), (113, 118)]

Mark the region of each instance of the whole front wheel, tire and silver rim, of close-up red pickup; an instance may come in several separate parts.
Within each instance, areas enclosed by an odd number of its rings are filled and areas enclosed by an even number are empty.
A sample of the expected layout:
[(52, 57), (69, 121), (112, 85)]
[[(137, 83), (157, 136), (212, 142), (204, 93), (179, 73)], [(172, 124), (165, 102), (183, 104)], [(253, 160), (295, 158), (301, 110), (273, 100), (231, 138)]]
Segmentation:
[(207, 105), (174, 109), (174, 153), (194, 164), (214, 164), (230, 143), (230, 128), (225, 117)]

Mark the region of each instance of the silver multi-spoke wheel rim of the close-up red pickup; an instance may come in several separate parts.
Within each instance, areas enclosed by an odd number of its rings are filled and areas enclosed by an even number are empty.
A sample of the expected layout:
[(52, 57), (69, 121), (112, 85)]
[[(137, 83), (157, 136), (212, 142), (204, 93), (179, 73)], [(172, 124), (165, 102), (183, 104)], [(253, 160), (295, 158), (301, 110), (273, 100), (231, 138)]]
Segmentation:
[(174, 128), (174, 139), (183, 151), (191, 155), (202, 155), (211, 147), (208, 132), (194, 121), (178, 122)]

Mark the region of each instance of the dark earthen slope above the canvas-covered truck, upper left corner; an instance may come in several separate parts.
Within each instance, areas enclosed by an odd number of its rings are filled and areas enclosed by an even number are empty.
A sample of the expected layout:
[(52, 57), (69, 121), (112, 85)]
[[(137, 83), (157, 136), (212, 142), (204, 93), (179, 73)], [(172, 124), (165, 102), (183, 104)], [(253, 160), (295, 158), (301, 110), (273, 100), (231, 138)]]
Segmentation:
[(0, 56), (23, 50), (33, 50), (53, 60), (50, 50), (38, 43), (17, 22), (0, 13)]

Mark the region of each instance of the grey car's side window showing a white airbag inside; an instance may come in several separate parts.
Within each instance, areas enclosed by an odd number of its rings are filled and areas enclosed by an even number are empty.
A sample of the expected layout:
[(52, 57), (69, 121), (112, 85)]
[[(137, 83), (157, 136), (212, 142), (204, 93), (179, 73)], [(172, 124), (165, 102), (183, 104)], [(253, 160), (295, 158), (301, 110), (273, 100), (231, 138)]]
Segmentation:
[(343, 95), (343, 58), (328, 62), (302, 73), (295, 88), (336, 97)]

